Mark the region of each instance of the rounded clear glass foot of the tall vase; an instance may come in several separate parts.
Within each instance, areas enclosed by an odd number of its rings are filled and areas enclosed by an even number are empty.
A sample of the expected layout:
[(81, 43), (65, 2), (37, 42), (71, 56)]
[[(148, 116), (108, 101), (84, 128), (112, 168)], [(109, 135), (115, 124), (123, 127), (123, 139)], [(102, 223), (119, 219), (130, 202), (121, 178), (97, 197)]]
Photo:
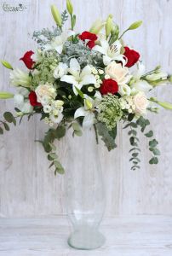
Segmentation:
[(68, 238), (68, 244), (80, 250), (96, 249), (105, 241), (105, 237), (98, 230), (76, 230)]

